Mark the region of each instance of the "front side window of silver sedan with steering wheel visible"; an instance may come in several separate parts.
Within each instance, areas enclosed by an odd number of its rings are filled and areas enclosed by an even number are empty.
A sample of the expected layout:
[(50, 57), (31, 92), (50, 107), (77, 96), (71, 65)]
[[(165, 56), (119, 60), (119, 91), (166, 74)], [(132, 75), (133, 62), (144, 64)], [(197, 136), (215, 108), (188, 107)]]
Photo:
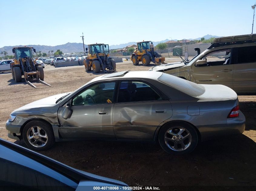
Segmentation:
[(86, 88), (75, 96), (72, 106), (112, 103), (115, 91), (115, 82), (101, 83)]

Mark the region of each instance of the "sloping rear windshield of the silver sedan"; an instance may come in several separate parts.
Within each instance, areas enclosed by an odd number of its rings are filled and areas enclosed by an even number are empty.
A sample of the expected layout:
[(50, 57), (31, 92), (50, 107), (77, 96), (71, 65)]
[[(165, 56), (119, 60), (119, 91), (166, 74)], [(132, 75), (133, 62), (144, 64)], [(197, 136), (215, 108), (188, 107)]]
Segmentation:
[(163, 73), (158, 80), (190, 96), (197, 97), (205, 92), (202, 85), (169, 74)]

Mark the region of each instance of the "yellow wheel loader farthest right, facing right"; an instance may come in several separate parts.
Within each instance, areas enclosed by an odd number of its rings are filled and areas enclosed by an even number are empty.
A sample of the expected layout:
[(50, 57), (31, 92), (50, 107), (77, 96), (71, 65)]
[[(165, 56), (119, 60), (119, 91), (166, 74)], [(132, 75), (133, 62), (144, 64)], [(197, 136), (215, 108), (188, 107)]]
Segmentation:
[(155, 52), (151, 41), (138, 42), (136, 50), (131, 55), (131, 61), (133, 65), (138, 65), (139, 62), (142, 62), (144, 66), (149, 65), (150, 62), (153, 62), (156, 65), (166, 64), (164, 62), (165, 57), (162, 57), (161, 54)]

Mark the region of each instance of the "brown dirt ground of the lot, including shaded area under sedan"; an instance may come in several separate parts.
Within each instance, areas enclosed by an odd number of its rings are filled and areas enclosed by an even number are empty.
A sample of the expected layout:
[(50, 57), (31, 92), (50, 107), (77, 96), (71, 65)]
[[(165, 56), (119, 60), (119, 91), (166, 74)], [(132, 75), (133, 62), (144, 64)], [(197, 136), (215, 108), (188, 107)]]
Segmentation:
[[(179, 61), (166, 58), (166, 62)], [(117, 63), (117, 71), (144, 71), (150, 66)], [(15, 83), (10, 72), (0, 73), (0, 137), (8, 141), (5, 122), (9, 114), (27, 103), (54, 94), (74, 91), (92, 78), (84, 66), (54, 68), (45, 66), (48, 87), (37, 88)], [(48, 157), (79, 170), (121, 180), (130, 186), (159, 186), (160, 190), (255, 190), (256, 188), (256, 96), (239, 96), (240, 110), (246, 117), (241, 135), (203, 142), (185, 156), (171, 156), (158, 143), (77, 141), (59, 142)], [(23, 141), (15, 143), (25, 146)]]

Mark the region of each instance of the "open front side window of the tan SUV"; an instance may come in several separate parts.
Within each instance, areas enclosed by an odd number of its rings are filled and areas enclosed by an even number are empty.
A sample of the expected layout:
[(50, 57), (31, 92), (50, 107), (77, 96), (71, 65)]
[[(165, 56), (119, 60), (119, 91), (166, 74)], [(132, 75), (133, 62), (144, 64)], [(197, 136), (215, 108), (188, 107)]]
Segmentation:
[(206, 54), (201, 59), (207, 61), (207, 65), (203, 66), (219, 66), (231, 63), (231, 49), (217, 50)]

